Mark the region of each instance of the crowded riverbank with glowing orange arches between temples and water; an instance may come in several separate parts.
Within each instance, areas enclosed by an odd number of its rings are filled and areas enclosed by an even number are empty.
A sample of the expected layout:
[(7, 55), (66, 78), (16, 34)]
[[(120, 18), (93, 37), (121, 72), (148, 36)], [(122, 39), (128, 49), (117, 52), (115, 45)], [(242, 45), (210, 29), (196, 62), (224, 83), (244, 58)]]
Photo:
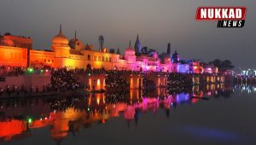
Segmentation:
[(194, 85), (218, 84), (230, 80), (233, 78), (221, 73), (195, 74), (116, 70), (80, 73), (59, 69), (51, 70), (47, 75), (26, 74), (18, 77), (7, 77), (2, 82), (4, 85), (0, 88), (0, 98), (62, 96), (66, 95), (67, 92), (73, 95), (71, 92), (82, 89), (84, 91), (86, 89), (86, 93), (129, 92), (130, 89), (154, 90), (159, 87), (180, 90)]

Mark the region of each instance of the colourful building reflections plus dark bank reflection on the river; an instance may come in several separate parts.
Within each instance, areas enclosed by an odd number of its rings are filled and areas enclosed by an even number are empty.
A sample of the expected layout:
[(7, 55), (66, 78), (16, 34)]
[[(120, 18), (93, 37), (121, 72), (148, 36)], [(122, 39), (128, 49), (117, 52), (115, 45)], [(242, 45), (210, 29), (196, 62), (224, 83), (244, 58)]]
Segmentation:
[[(228, 89), (227, 89), (228, 88)], [(237, 87), (236, 87), (237, 88)], [(159, 88), (157, 90), (131, 90), (130, 94), (90, 94), (90, 96), (20, 98), (0, 102), (1, 142), (32, 136), (32, 130), (50, 126), (50, 136), (60, 143), (69, 133), (76, 135), (92, 124), (105, 124), (111, 118), (125, 119), (127, 128), (139, 125), (140, 113), (157, 113), (182, 104), (207, 101), (212, 97), (228, 97), (233, 88), (212, 84), (190, 89)]]

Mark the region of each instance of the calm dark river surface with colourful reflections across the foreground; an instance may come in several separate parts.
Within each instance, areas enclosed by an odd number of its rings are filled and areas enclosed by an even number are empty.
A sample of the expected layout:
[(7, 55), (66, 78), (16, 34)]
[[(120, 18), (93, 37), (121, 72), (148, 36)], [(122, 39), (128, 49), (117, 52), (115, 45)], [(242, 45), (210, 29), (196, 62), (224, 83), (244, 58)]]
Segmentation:
[(1, 100), (0, 144), (256, 144), (255, 90)]

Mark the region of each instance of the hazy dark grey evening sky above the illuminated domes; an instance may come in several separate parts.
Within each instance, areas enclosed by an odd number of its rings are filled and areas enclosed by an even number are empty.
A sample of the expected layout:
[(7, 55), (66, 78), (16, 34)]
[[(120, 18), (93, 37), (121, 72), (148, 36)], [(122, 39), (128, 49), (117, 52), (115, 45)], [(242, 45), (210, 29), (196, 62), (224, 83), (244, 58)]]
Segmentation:
[[(199, 6), (246, 6), (243, 28), (217, 28), (217, 21), (195, 21)], [(182, 58), (230, 59), (236, 67), (256, 68), (255, 0), (0, 0), (0, 32), (30, 36), (34, 49), (49, 49), (59, 31), (74, 31), (84, 44), (122, 52), (137, 33), (143, 46), (166, 51), (172, 43)]]

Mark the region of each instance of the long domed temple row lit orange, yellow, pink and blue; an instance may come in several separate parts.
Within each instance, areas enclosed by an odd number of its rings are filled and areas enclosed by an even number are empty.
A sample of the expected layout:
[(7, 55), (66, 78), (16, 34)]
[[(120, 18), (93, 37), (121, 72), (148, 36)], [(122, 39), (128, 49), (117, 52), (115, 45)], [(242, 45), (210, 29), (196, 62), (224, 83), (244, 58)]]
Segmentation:
[(214, 67), (204, 68), (199, 61), (180, 61), (177, 51), (171, 55), (171, 44), (166, 53), (161, 55), (155, 49), (142, 48), (139, 36), (135, 47), (125, 49), (120, 55), (119, 49), (104, 47), (103, 36), (99, 37), (99, 49), (91, 44), (83, 44), (77, 38), (68, 40), (61, 30), (52, 38), (51, 49), (38, 50), (32, 48), (32, 38), (13, 36), (9, 33), (0, 36), (0, 66), (10, 67), (53, 67), (75, 69), (91, 68), (105, 70), (131, 70), (176, 73), (212, 73)]

